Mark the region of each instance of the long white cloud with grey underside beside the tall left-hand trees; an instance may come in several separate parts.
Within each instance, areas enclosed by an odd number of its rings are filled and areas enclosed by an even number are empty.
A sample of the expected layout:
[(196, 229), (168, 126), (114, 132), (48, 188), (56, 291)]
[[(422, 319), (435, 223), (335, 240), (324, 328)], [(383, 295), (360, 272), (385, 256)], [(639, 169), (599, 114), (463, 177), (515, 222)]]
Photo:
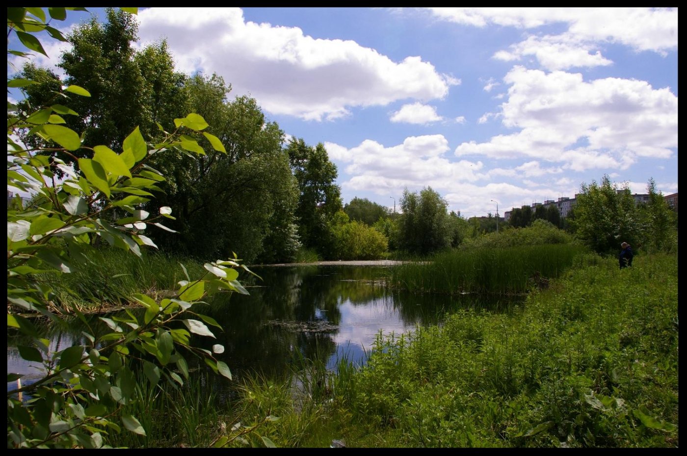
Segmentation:
[[(142, 42), (166, 37), (181, 71), (215, 71), (273, 114), (335, 119), (353, 106), (441, 100), (460, 84), (419, 56), (394, 62), (354, 41), (246, 22), (239, 8), (149, 8), (138, 16)], [(203, 40), (193, 39), (201, 30)]]

